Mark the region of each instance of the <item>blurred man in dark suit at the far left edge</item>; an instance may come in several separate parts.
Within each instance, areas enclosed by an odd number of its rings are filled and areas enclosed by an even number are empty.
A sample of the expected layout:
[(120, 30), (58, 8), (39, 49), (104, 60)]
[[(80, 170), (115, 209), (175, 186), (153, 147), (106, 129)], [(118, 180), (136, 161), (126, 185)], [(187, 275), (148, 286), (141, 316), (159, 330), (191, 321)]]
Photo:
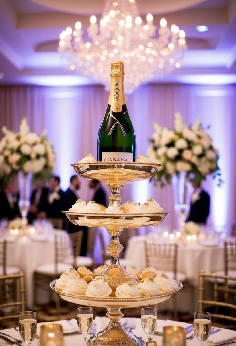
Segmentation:
[(2, 192), (0, 193), (0, 219), (7, 218), (12, 220), (15, 217), (20, 217), (18, 198), (14, 190), (12, 181), (3, 184)]

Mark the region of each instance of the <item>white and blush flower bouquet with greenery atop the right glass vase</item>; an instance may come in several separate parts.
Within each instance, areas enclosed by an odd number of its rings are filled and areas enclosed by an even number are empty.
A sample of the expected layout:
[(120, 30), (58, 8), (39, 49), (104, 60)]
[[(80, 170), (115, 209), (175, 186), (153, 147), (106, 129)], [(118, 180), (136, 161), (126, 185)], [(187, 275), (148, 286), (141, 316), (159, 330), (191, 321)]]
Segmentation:
[[(154, 176), (156, 182), (170, 184), (173, 174), (186, 172), (190, 181), (200, 184), (208, 174), (220, 176), (219, 152), (212, 145), (212, 139), (197, 119), (190, 127), (184, 125), (179, 112), (174, 115), (174, 129), (154, 124), (155, 132), (150, 139), (147, 155), (152, 162), (162, 166)], [(218, 185), (222, 183), (219, 179)]]

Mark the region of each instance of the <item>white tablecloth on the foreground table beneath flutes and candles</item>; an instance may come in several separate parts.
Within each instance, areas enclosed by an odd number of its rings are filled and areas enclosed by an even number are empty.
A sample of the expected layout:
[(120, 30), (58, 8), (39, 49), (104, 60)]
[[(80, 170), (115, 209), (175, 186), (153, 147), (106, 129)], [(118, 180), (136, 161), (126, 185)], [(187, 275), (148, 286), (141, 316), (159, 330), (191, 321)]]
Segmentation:
[[(97, 319), (97, 318), (96, 318)], [(95, 319), (95, 320), (96, 320)], [(100, 325), (104, 325), (103, 327), (105, 328), (108, 325), (108, 318), (107, 317), (100, 317)], [(101, 321), (101, 319), (104, 319), (104, 322)], [(143, 340), (146, 342), (147, 341), (147, 337), (143, 331), (143, 328), (141, 327), (141, 322), (140, 322), (140, 318), (135, 318), (136, 321), (136, 328), (132, 330), (132, 332), (134, 333), (134, 335), (142, 337)], [(168, 323), (167, 323), (168, 322)], [(51, 322), (53, 323), (53, 322)], [(56, 323), (56, 321), (54, 322)], [(157, 322), (157, 329), (158, 326), (162, 326), (162, 325), (166, 325), (166, 323), (168, 325), (183, 325), (183, 327), (186, 327), (186, 323), (182, 323), (181, 322), (176, 322), (175, 321), (164, 321), (164, 320), (159, 320)], [(37, 330), (38, 330), (38, 334), (40, 333), (40, 326), (44, 324), (44, 323), (38, 323), (37, 326)], [(101, 329), (97, 330), (96, 333), (98, 333), (99, 331), (101, 331)], [(3, 333), (9, 334), (17, 339), (21, 339), (20, 338), (20, 334), (18, 331), (16, 331), (15, 329), (11, 328), (11, 329), (5, 329), (2, 330)], [(186, 336), (189, 336), (193, 333), (193, 331), (190, 331)], [(88, 335), (88, 338), (90, 336)], [(236, 331), (233, 330), (229, 330), (229, 329), (224, 329), (221, 328), (221, 330), (216, 333), (213, 334), (212, 336), (209, 337), (209, 340), (211, 340), (212, 342), (217, 343), (218, 340), (220, 340), (221, 342), (226, 342), (229, 339), (236, 339)], [(72, 334), (64, 334), (64, 346), (82, 346), (83, 345), (83, 336), (82, 334), (79, 333), (72, 333)], [(153, 340), (157, 341), (157, 344), (159, 346), (162, 345), (162, 336), (160, 335), (154, 335), (153, 336)], [(1, 345), (8, 345), (5, 341), (3, 341), (2, 339), (0, 339)], [(22, 344), (23, 345), (23, 344)], [(39, 345), (39, 339), (34, 339), (33, 342), (31, 343), (31, 346), (38, 346)], [(196, 337), (194, 337), (192, 340), (186, 340), (186, 346), (199, 346), (199, 342), (196, 339)], [(212, 346), (214, 344), (211, 344)]]

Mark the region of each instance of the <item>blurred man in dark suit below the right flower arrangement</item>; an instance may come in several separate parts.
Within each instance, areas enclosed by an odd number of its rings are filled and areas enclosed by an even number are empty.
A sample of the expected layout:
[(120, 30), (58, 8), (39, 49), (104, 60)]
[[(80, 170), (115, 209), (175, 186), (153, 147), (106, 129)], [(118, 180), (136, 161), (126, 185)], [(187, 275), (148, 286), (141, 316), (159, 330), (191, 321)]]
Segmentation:
[(197, 224), (206, 224), (210, 211), (210, 196), (202, 190), (200, 185), (193, 184), (194, 192), (190, 203), (190, 212), (187, 221), (194, 221)]

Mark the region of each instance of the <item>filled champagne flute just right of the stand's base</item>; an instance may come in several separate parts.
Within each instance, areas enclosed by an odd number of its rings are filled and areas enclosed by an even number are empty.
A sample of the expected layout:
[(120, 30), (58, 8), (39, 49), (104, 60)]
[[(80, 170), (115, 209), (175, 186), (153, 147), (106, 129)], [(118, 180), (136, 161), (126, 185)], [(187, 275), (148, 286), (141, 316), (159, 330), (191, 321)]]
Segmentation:
[(157, 326), (156, 308), (142, 308), (141, 325), (148, 337), (148, 341), (152, 341), (152, 336)]

